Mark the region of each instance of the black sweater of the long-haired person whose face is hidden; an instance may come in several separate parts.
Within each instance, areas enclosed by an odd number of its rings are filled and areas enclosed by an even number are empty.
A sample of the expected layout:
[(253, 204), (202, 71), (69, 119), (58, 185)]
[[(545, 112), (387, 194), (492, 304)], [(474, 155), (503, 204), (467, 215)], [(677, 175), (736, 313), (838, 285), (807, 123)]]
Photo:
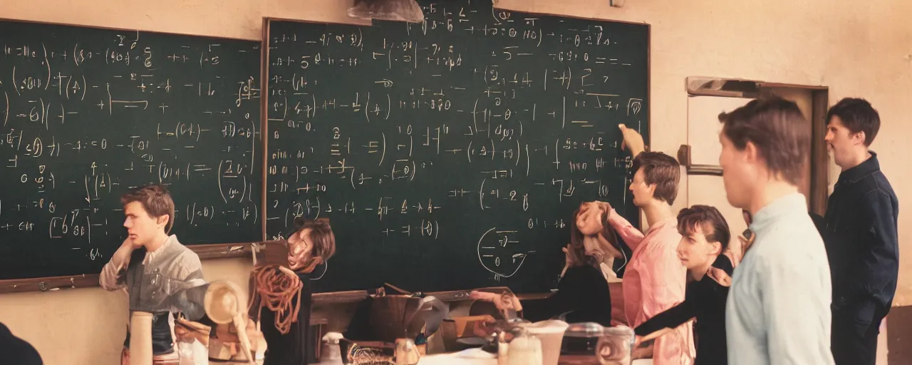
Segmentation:
[(594, 266), (570, 267), (551, 297), (523, 300), (523, 318), (539, 321), (567, 313), (567, 323), (596, 322), (611, 326), (611, 293), (602, 272)]

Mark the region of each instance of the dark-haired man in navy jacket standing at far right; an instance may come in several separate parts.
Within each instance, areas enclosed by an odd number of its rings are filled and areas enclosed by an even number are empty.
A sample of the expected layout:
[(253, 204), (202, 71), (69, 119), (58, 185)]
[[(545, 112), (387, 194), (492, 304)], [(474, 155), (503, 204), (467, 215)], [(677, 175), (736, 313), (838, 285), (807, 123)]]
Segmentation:
[(877, 110), (865, 99), (842, 99), (826, 117), (826, 145), (842, 168), (821, 230), (833, 276), (833, 357), (838, 365), (874, 365), (880, 321), (896, 294), (899, 202), (868, 150), (880, 130)]

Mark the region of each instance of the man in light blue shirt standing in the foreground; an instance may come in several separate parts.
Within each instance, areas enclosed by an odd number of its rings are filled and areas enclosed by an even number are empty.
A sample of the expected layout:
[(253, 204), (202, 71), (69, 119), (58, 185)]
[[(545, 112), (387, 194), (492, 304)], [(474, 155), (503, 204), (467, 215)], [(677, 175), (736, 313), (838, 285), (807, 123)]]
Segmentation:
[(725, 193), (751, 213), (756, 235), (726, 303), (729, 363), (833, 365), (830, 266), (797, 187), (811, 126), (794, 102), (775, 97), (719, 120)]

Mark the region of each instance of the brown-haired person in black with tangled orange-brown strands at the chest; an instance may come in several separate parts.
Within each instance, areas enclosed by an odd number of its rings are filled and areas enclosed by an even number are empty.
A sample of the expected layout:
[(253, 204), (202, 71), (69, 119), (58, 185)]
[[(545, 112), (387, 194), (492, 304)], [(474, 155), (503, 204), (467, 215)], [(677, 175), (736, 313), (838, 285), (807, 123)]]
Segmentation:
[[(306, 364), (314, 353), (310, 327), (310, 273), (336, 253), (336, 235), (328, 219), (295, 219), (295, 233), (285, 240), (288, 266), (260, 266), (251, 274), (255, 318), (266, 340), (264, 365)], [(311, 347), (311, 348), (308, 348)]]

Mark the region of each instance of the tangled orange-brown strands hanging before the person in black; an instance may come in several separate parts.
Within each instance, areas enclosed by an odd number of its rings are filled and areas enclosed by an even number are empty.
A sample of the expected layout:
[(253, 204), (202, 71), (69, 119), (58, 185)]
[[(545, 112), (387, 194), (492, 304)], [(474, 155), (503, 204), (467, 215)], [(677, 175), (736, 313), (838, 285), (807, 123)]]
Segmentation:
[[(254, 269), (254, 283), (260, 299), (260, 308), (257, 308), (256, 312), (259, 313), (263, 307), (274, 311), (275, 328), (283, 335), (287, 334), (292, 323), (297, 321), (297, 314), (301, 309), (301, 288), (304, 284), (297, 276), (288, 275), (280, 266), (274, 265)], [(292, 299), (295, 296), (297, 301), (292, 306)]]

